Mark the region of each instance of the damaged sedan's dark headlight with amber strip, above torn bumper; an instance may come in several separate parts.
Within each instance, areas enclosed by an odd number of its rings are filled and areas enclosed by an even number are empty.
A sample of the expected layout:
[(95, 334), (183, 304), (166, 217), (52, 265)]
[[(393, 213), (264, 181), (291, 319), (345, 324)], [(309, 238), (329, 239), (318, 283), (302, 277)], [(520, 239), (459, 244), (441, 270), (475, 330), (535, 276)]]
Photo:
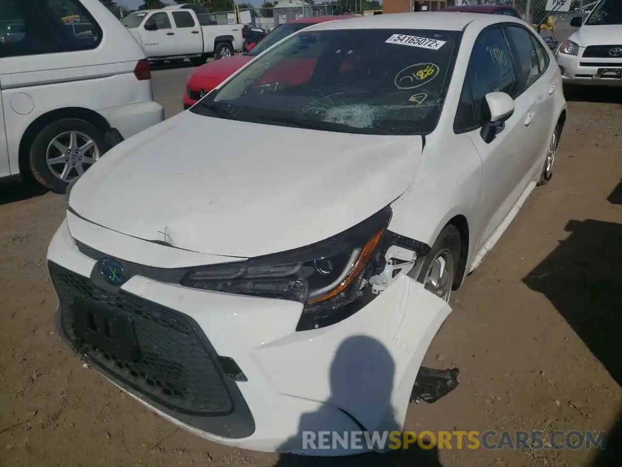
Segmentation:
[[(299, 301), (304, 304), (303, 316), (313, 316), (317, 321), (361, 295), (390, 220), (391, 209), (387, 207), (313, 245), (243, 262), (193, 268), (180, 283), (203, 290)], [(304, 326), (309, 327), (318, 326)]]

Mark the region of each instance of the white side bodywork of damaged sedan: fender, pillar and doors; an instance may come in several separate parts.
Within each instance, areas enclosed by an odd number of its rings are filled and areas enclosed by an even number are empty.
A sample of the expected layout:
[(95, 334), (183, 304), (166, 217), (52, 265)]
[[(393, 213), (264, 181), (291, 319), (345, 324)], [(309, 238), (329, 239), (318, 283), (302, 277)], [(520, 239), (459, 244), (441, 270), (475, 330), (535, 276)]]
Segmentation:
[[(453, 15), (463, 16), (465, 13)], [(481, 16), (488, 18), (487, 15)], [(490, 16), (490, 24), (493, 24), (496, 18)], [(503, 20), (524, 24), (511, 17), (504, 17)], [(462, 37), (461, 48), (471, 50), (479, 32), (479, 29), (467, 28)], [(555, 67), (555, 57), (544, 40), (540, 40), (549, 54), (550, 65), (545, 75), (515, 101), (514, 115), (508, 120), (506, 127), (521, 123), (516, 125), (517, 133), (500, 133), (498, 139), (485, 144), (479, 130), (455, 134), (455, 113), (443, 112), (437, 129), (426, 137), (424, 157), (416, 181), (391, 205), (394, 212), (391, 229), (429, 245), (434, 243), (447, 222), (455, 215), (463, 215), (470, 232), (466, 272), (475, 269), (473, 262), (476, 255), (482, 252), (499, 225), (506, 225), (503, 223), (504, 218), (518, 205), (519, 198), (529, 183), (540, 176), (550, 133), (567, 106), (560, 73)], [(466, 73), (469, 58), (470, 53), (458, 55), (454, 75), (463, 76)], [(462, 80), (452, 80), (445, 106), (459, 100), (462, 84)], [(521, 128), (530, 112), (534, 113), (534, 121), (530, 128)], [(541, 130), (543, 126), (546, 129), (544, 131)], [(537, 136), (534, 137), (534, 133)], [(508, 144), (500, 150), (516, 152), (495, 153), (495, 148), (506, 139)], [(531, 144), (529, 150), (534, 158), (520, 157), (525, 143)], [(460, 158), (455, 157), (458, 153)], [(426, 157), (426, 154), (434, 156)], [(439, 187), (442, 189), (439, 190)], [(499, 204), (501, 199), (503, 202)], [(488, 204), (488, 209), (478, 212), (480, 202), (484, 206)], [(413, 215), (414, 212), (417, 215)]]

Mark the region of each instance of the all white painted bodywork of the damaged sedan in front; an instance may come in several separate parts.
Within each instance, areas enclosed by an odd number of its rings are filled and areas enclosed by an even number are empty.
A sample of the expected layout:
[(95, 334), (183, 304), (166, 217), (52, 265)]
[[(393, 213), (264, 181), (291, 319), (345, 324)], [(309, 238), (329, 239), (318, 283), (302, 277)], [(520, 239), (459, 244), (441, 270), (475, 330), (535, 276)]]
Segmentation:
[[(359, 17), (307, 30), (417, 28), (417, 21), (465, 29), (453, 70), (457, 78), (425, 144), (415, 135), (332, 133), (185, 111), (119, 144), (81, 177), (68, 200), (77, 215), (68, 212), (50, 243), (49, 261), (82, 278), (96, 274), (98, 261), (81, 252), (78, 241), (151, 267), (235, 262), (310, 245), (390, 205), (388, 229), (430, 246), (447, 222), (465, 219), (468, 253), (461, 260), (465, 273), (472, 271), (539, 179), (550, 136), (566, 109), (560, 73), (541, 40), (549, 70), (515, 100), (506, 127), (485, 144), (479, 130), (453, 130), (471, 48), (486, 26), (524, 22), (430, 12)], [(215, 136), (209, 145), (203, 134)], [(106, 198), (130, 188), (132, 196), (122, 205)], [(410, 255), (414, 263), (414, 251), (402, 250), (402, 258)], [(167, 415), (134, 391), (132, 397), (203, 438), (260, 451), (323, 455), (297, 447), (300, 430), (360, 430), (356, 422), (366, 430), (399, 430), (425, 352), (451, 311), (413, 276), (410, 268), (397, 273), (379, 295), (338, 323), (295, 331), (301, 303), (133, 275), (122, 291), (193, 318), (218, 354), (239, 364), (248, 380), (236, 386), (256, 428), (245, 438), (216, 436)]]

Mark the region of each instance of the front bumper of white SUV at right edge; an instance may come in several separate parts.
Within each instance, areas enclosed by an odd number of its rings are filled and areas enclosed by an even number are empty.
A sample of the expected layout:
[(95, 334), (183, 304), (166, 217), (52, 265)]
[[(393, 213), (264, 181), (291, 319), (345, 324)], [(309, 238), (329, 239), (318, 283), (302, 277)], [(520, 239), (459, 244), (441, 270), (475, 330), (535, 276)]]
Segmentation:
[(585, 86), (622, 86), (622, 75), (620, 77), (599, 76), (599, 70), (622, 68), (622, 59), (584, 59), (583, 50), (583, 48), (580, 49), (578, 56), (559, 53), (555, 55), (564, 83)]

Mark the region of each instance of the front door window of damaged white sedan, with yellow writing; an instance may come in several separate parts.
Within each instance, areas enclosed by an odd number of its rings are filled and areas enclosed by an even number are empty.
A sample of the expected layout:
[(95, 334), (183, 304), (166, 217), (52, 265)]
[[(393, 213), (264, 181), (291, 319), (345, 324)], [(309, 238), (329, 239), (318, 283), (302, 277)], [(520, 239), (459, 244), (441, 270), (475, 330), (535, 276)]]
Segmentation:
[(508, 93), (513, 99), (518, 97), (519, 85), (508, 42), (499, 27), (490, 27), (480, 33), (471, 51), (466, 79), (471, 88), (478, 123), (481, 121), (484, 97), (489, 92), (500, 91)]

